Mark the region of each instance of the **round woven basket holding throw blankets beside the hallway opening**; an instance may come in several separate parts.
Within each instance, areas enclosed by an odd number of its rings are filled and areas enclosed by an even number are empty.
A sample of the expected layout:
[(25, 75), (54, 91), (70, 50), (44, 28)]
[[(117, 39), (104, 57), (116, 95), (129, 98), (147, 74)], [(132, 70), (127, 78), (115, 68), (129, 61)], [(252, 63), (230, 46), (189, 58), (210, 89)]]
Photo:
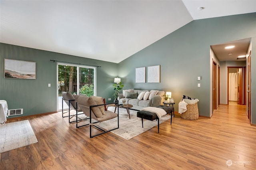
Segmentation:
[(196, 104), (188, 104), (186, 112), (182, 113), (180, 115), (183, 119), (188, 120), (196, 120), (198, 119), (199, 113), (198, 113), (198, 106)]

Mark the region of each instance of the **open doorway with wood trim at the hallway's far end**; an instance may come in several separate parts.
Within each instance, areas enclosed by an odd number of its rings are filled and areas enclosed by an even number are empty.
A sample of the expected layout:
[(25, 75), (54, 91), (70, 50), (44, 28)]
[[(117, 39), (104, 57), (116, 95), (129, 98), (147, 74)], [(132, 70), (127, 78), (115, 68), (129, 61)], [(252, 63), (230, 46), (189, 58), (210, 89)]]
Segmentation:
[(244, 82), (244, 67), (228, 67), (228, 105), (245, 105)]

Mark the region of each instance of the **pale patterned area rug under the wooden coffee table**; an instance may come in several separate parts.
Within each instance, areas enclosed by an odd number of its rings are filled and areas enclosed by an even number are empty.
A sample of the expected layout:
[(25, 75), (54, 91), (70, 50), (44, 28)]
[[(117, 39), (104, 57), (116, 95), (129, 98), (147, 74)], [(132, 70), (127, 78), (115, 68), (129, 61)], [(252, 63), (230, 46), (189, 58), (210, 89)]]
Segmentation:
[[(108, 107), (109, 111), (114, 111), (114, 107)], [(117, 111), (116, 111), (117, 112)], [(157, 126), (157, 121), (148, 121), (146, 119), (143, 119), (143, 128), (142, 128), (142, 122), (141, 118), (137, 117), (137, 112), (135, 110), (130, 109), (130, 117), (126, 111), (126, 109), (119, 108), (119, 128), (116, 130), (112, 130), (110, 132), (129, 140), (131, 138), (134, 138), (135, 136), (138, 136), (139, 134), (142, 134), (143, 132), (146, 132), (147, 130), (151, 129), (152, 127)], [(160, 118), (159, 124), (163, 123), (164, 121), (167, 121), (170, 119), (171, 116), (164, 115)], [(100, 123), (100, 127), (109, 130), (111, 128), (117, 127), (117, 118), (110, 119), (108, 121), (104, 121)], [(157, 133), (157, 131), (156, 131)]]

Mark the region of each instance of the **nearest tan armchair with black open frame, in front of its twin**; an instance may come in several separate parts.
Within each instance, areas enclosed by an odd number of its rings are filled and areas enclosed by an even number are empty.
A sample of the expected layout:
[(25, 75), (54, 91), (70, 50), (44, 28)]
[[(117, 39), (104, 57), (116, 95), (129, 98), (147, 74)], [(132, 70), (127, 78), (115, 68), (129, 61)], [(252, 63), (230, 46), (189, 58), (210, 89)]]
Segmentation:
[[(95, 97), (95, 96), (87, 97), (87, 96), (82, 96), (82, 95), (75, 96), (76, 103), (77, 103), (76, 108), (79, 107), (80, 109), (82, 109), (83, 113), (90, 119), (90, 123), (88, 123), (86, 125), (78, 126), (79, 122), (77, 122), (76, 127), (79, 128), (79, 127), (90, 125), (90, 138), (93, 138), (100, 134), (104, 134), (106, 132), (110, 132), (112, 130), (119, 128), (119, 107), (117, 107), (117, 113), (108, 111), (107, 109), (104, 109), (104, 106), (109, 105), (109, 104), (114, 104), (114, 103), (104, 104), (102, 101), (102, 104), (98, 104), (99, 102), (96, 103), (96, 101), (94, 100), (95, 98), (102, 100), (102, 97)], [(115, 104), (118, 105), (118, 102), (116, 102)], [(101, 122), (107, 121), (110, 119), (114, 119), (116, 117), (117, 117), (117, 127), (112, 128), (110, 130), (105, 130), (99, 126)], [(92, 127), (95, 127), (102, 132), (93, 135)]]

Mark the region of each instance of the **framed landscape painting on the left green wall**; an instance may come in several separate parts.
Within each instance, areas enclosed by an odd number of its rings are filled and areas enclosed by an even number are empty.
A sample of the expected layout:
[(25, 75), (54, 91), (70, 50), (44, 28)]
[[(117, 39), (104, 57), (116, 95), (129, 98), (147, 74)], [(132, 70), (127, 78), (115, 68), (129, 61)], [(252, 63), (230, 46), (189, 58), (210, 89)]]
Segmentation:
[(4, 59), (4, 78), (36, 79), (36, 62)]

